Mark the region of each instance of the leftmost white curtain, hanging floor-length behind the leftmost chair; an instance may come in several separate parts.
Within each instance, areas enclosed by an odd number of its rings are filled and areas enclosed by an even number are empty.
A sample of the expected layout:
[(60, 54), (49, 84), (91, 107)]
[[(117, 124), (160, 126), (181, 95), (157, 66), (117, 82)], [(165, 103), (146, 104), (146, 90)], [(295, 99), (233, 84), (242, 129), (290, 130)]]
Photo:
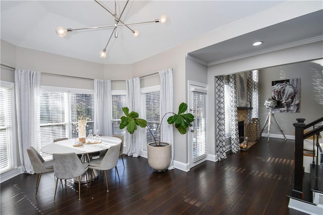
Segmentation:
[(15, 93), (20, 160), (25, 172), (33, 174), (27, 148), (38, 148), (40, 72), (16, 69)]

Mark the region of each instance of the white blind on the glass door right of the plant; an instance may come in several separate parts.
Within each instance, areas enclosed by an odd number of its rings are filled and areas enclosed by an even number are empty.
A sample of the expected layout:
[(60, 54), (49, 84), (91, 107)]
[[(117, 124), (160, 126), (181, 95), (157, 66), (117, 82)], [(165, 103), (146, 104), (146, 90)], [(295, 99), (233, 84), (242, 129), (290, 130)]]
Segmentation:
[(193, 161), (206, 157), (206, 93), (192, 91)]

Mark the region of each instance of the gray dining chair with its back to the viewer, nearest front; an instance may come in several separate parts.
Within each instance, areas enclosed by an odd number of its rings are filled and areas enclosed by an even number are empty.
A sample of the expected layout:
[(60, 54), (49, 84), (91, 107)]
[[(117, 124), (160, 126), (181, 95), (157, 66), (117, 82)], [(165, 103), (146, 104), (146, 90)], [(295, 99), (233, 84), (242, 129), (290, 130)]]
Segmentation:
[[(79, 181), (79, 200), (81, 200), (81, 175), (88, 170), (88, 163), (82, 163), (76, 153), (53, 154), (53, 166), (56, 176), (54, 201), (59, 179), (77, 178)], [(87, 175), (85, 174), (86, 181)]]

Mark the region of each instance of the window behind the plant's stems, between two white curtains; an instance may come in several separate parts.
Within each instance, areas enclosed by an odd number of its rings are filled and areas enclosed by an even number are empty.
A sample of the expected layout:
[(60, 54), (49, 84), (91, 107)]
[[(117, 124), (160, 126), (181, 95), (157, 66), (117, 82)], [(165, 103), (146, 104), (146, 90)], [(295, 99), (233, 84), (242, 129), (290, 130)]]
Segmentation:
[[(159, 140), (159, 108), (160, 108), (160, 87), (146, 87), (141, 89), (141, 115), (140, 118), (147, 121), (156, 141)], [(154, 142), (148, 128), (142, 129), (142, 150), (147, 150), (147, 143)]]

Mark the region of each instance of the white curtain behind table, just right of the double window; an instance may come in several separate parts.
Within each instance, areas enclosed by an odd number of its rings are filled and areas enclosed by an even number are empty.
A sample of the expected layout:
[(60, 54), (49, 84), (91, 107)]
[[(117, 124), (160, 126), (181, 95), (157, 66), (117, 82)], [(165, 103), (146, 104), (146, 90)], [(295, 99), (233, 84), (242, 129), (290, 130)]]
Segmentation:
[(112, 94), (110, 80), (94, 80), (94, 134), (112, 135)]

